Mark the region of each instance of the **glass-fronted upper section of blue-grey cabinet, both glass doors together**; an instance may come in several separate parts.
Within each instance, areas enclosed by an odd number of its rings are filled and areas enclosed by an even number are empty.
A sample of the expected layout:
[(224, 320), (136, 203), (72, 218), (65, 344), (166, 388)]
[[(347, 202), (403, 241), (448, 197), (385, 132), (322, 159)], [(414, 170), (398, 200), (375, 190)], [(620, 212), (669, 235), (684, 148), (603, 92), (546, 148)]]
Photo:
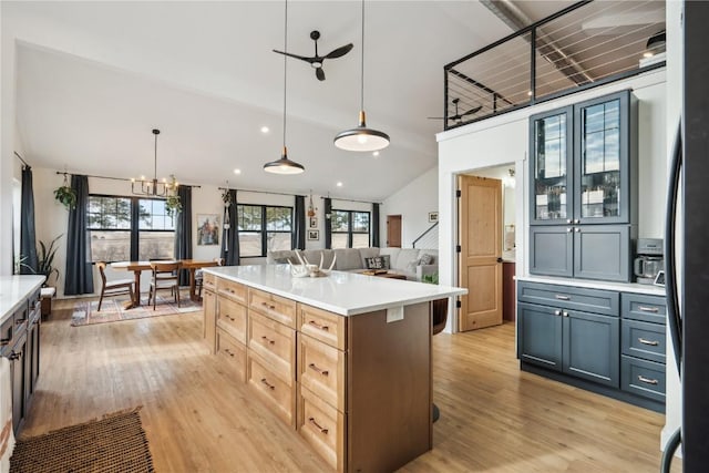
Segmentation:
[(623, 91), (531, 117), (532, 225), (633, 222), (636, 114)]

